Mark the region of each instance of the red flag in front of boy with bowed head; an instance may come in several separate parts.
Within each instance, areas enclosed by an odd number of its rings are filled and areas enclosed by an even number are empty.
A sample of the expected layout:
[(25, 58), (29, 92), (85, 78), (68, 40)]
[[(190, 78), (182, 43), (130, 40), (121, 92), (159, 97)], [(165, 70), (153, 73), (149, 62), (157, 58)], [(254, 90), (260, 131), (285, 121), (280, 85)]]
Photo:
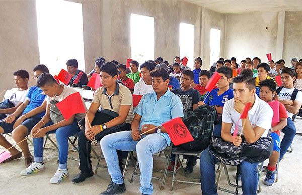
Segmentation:
[(86, 112), (82, 97), (79, 92), (69, 95), (64, 100), (57, 103), (56, 106), (61, 111), (65, 120), (68, 120), (71, 116), (77, 113)]

